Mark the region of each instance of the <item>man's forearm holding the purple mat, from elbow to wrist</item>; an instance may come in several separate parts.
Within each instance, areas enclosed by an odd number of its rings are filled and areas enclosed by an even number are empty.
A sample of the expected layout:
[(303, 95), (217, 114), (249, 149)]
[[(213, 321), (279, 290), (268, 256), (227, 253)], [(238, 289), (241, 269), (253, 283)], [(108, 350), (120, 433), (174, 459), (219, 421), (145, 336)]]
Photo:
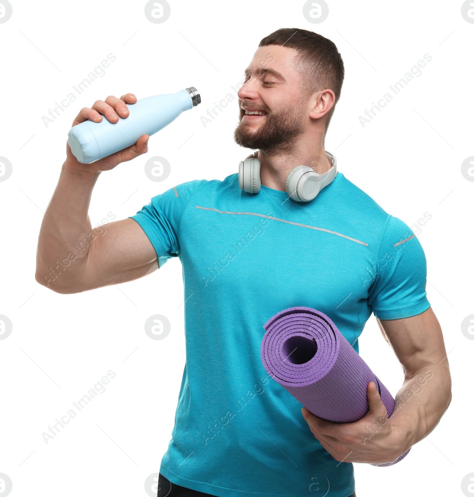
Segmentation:
[(406, 439), (406, 450), (427, 436), (451, 402), (451, 374), (447, 360), (407, 373), (395, 396), (392, 424)]

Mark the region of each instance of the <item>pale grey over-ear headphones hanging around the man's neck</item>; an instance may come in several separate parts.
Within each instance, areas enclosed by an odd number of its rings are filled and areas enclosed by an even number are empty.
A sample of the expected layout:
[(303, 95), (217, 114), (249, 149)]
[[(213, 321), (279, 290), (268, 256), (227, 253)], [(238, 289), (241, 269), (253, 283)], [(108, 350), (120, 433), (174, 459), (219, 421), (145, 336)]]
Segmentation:
[[(286, 192), (297, 202), (309, 202), (328, 184), (337, 174), (336, 158), (327, 150), (326, 157), (332, 165), (323, 174), (318, 174), (309, 166), (296, 166), (286, 178)], [(238, 165), (238, 186), (248, 193), (260, 191), (260, 161), (256, 158), (245, 159)]]

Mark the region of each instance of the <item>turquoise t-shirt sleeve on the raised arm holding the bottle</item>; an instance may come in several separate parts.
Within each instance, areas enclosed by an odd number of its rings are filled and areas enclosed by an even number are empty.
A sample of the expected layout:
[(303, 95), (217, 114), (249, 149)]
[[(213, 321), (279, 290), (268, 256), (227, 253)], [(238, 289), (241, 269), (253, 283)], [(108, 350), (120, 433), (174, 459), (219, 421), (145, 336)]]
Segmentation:
[(155, 248), (159, 267), (170, 257), (180, 254), (179, 224), (200, 182), (201, 180), (194, 180), (174, 186), (153, 197), (142, 210), (130, 216), (142, 227)]

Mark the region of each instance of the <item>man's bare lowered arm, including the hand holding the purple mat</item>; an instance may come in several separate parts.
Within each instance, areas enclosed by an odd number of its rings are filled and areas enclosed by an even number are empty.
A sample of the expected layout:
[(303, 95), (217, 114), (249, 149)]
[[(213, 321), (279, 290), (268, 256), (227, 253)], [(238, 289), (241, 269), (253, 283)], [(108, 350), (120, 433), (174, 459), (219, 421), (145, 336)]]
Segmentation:
[(435, 428), (451, 402), (443, 334), (431, 307), (409, 318), (377, 321), (404, 371), (392, 416), (374, 382), (367, 388), (369, 412), (354, 423), (332, 423), (302, 409), (315, 437), (337, 461), (395, 461)]

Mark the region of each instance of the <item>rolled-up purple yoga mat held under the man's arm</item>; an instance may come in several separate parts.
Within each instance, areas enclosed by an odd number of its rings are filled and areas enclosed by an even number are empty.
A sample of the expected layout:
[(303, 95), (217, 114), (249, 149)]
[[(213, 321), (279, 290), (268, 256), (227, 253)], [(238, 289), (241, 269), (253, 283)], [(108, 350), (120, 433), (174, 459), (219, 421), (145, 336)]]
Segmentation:
[[(313, 414), (338, 423), (359, 420), (369, 411), (367, 386), (373, 381), (391, 417), (395, 399), (325, 314), (311, 307), (290, 307), (263, 328), (263, 366)], [(392, 466), (409, 451), (391, 463), (372, 465)]]

